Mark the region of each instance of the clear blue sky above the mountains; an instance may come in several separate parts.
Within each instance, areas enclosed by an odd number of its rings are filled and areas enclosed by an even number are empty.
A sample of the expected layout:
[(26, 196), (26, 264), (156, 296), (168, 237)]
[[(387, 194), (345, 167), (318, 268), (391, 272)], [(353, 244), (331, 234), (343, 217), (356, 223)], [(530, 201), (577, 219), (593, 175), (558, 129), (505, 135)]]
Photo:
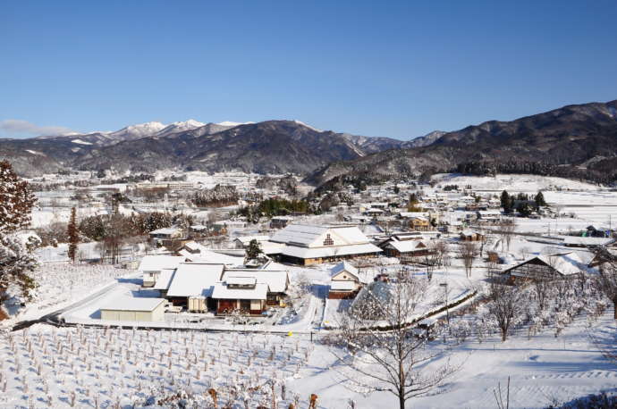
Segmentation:
[(407, 139), (512, 120), (616, 99), (615, 21), (614, 0), (0, 0), (0, 137), (194, 118)]

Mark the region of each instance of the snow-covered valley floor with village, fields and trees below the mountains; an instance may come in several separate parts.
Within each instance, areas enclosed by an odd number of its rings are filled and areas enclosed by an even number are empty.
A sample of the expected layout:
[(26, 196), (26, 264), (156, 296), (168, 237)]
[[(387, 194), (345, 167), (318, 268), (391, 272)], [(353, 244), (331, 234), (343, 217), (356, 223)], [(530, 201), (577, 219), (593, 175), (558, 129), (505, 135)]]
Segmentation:
[(438, 174), (307, 199), (292, 175), (3, 166), (3, 407), (559, 407), (614, 388), (610, 188)]

